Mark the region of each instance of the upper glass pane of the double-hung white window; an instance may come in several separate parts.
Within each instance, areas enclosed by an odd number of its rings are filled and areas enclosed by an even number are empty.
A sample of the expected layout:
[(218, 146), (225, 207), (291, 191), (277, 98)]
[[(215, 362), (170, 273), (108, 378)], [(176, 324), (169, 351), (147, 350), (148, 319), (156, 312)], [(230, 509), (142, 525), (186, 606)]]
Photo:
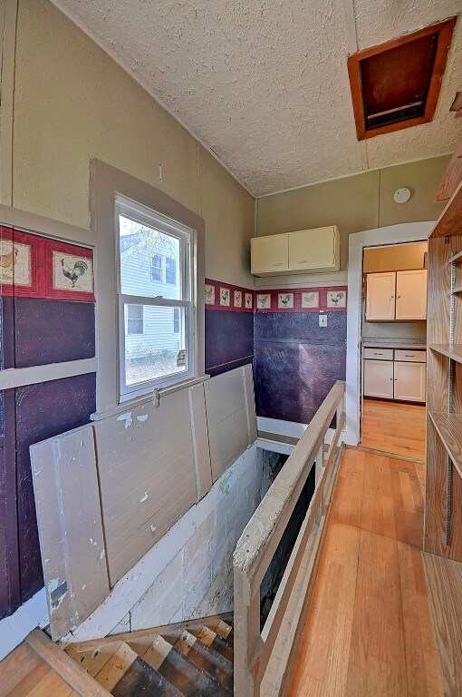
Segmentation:
[(184, 299), (179, 239), (123, 215), (119, 216), (119, 233), (121, 292)]

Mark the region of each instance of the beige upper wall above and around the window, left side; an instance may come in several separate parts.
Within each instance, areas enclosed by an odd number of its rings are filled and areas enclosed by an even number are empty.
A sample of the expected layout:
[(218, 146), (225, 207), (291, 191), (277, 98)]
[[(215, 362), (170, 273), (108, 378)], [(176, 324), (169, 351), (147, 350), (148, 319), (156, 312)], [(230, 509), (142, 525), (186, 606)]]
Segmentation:
[(19, 0), (13, 162), (1, 172), (6, 181), (11, 167), (13, 183), (1, 202), (88, 228), (94, 157), (202, 215), (207, 276), (253, 285), (253, 197), (48, 0)]

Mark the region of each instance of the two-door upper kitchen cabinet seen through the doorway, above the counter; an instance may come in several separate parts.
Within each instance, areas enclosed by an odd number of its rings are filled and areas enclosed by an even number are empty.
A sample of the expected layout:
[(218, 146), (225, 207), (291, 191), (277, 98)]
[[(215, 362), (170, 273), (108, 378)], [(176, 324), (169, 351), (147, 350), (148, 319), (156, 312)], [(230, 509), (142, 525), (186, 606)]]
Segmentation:
[(366, 319), (369, 322), (427, 318), (427, 269), (368, 273)]

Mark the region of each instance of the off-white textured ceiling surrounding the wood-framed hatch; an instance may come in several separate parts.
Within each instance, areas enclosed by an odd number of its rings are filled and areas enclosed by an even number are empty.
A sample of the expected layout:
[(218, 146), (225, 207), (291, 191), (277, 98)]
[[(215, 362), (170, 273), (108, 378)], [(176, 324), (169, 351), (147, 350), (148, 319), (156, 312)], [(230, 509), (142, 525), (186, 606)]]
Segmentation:
[[(346, 58), (460, 0), (53, 0), (255, 196), (454, 149), (462, 20), (432, 123), (357, 142)], [(351, 49), (351, 46), (353, 47)]]

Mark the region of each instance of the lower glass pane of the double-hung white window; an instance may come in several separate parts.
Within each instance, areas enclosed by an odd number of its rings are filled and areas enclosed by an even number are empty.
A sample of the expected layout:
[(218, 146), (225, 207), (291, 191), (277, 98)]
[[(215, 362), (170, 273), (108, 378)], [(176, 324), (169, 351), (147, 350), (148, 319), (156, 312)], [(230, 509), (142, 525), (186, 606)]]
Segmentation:
[[(129, 308), (141, 309), (144, 331), (130, 333)], [(152, 305), (125, 306), (125, 381), (127, 386), (168, 378), (188, 370), (185, 341), (185, 308)], [(178, 332), (175, 331), (175, 316)], [(173, 321), (172, 321), (173, 319)]]

